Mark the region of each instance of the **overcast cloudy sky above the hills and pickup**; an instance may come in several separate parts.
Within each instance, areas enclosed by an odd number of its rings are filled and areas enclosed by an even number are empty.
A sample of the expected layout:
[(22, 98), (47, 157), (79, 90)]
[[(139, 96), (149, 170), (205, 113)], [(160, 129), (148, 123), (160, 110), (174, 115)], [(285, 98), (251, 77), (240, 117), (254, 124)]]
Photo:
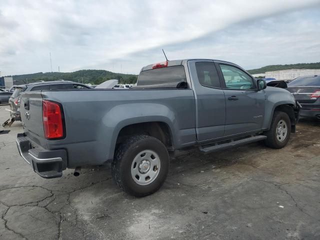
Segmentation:
[(320, 0), (1, 0), (2, 75), (138, 73), (168, 59), (320, 61)]

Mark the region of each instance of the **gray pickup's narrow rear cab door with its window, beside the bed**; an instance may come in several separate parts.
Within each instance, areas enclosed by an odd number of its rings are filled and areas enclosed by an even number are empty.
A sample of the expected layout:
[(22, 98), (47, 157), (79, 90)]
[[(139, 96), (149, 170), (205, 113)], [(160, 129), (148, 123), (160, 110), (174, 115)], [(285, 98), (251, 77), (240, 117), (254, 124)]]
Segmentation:
[(198, 141), (224, 135), (225, 98), (213, 60), (189, 60), (195, 97), (195, 130)]

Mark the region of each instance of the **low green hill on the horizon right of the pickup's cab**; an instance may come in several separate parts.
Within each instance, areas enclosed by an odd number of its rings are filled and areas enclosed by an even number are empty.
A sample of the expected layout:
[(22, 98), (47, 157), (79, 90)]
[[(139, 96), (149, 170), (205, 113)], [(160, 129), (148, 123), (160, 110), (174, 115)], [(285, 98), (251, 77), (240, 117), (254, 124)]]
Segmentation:
[(313, 63), (296, 63), (296, 64), (285, 64), (285, 65), (268, 65), (262, 66), (257, 69), (248, 70), (251, 74), (264, 73), (266, 71), (278, 71), (286, 69), (320, 69), (320, 62)]

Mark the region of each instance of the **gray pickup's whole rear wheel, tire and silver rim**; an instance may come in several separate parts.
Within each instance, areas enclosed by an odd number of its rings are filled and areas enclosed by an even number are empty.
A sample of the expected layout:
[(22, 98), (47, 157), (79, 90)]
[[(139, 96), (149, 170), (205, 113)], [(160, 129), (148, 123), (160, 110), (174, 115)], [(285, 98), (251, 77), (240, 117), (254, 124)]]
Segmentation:
[(127, 138), (116, 149), (112, 177), (123, 191), (141, 197), (160, 188), (168, 166), (169, 154), (160, 140), (136, 135)]

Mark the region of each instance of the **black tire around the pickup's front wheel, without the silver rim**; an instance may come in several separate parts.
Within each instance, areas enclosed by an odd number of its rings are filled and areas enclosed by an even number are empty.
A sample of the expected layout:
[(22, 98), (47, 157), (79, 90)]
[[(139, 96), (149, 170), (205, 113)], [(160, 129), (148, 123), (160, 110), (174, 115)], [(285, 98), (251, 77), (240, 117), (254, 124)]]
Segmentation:
[[(286, 136), (282, 140), (279, 139), (279, 136), (277, 136), (277, 133), (276, 133), (277, 124), (281, 120), (285, 121), (287, 126)], [(291, 121), (288, 114), (286, 114), (283, 111), (275, 111), (273, 113), (270, 129), (265, 132), (265, 135), (267, 136), (267, 138), (264, 140), (264, 144), (268, 147), (275, 148), (275, 149), (282, 148), (289, 141), (290, 133), (291, 133)]]

